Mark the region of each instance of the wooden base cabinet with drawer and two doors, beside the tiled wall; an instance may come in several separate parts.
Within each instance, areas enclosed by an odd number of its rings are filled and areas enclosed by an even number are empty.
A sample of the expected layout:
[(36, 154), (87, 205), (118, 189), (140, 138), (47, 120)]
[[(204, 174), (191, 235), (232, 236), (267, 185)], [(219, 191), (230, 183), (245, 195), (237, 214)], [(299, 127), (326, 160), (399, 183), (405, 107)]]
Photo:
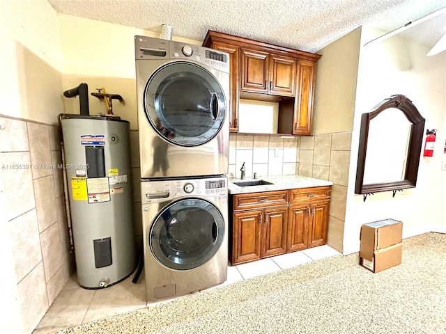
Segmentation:
[(290, 190), (287, 252), (327, 243), (330, 196), (330, 186)]

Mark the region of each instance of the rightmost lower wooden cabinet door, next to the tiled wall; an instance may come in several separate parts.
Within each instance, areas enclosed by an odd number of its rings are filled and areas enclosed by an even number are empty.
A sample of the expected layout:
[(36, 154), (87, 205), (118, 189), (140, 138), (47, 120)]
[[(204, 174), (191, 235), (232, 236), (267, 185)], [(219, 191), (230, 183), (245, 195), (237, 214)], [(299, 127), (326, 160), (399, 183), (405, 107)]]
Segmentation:
[(312, 221), (309, 224), (308, 247), (325, 245), (327, 243), (330, 202), (313, 203), (311, 210)]

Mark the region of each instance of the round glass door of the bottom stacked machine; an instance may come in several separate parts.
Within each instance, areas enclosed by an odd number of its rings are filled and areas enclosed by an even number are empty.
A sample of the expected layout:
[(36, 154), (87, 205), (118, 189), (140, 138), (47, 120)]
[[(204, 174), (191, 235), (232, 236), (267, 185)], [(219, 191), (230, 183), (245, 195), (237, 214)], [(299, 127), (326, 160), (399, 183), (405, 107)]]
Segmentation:
[(206, 200), (187, 198), (157, 214), (148, 235), (156, 259), (171, 269), (188, 270), (210, 260), (220, 248), (224, 219)]

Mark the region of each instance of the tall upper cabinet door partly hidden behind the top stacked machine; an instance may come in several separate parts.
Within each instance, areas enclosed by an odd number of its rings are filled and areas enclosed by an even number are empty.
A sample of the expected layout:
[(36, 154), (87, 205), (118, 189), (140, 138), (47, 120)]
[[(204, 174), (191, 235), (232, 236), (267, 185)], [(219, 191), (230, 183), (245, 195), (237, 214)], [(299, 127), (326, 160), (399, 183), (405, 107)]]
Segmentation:
[(213, 49), (229, 54), (229, 132), (238, 132), (238, 73), (240, 70), (240, 48), (221, 42), (214, 42)]

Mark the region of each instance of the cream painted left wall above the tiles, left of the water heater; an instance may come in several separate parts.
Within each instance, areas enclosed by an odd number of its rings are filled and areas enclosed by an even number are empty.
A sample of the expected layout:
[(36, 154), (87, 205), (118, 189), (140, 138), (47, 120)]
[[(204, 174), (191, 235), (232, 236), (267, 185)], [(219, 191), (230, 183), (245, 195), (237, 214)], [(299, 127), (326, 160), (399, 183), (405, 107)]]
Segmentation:
[(61, 48), (56, 13), (45, 0), (1, 2), (1, 113), (56, 124)]

